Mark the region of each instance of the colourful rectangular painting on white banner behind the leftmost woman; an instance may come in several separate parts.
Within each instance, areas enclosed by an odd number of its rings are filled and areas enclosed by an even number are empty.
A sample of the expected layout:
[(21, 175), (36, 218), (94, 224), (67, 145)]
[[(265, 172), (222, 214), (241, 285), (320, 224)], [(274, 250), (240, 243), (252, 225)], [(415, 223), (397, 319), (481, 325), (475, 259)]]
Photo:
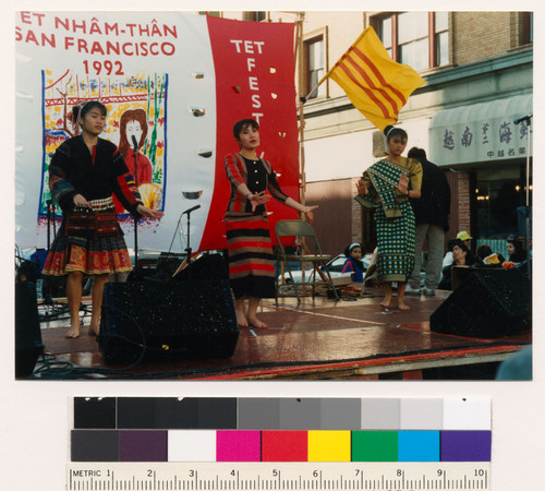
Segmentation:
[[(70, 107), (78, 100), (99, 99), (108, 108), (108, 124), (104, 137), (114, 143), (131, 173), (134, 171), (132, 136), (137, 143), (136, 163), (138, 191), (143, 203), (153, 209), (164, 209), (166, 182), (165, 107), (167, 74), (138, 74), (123, 79), (89, 79), (66, 70), (61, 76), (45, 71), (44, 128), (45, 161), (38, 221), (46, 224), (47, 202), (51, 200), (48, 185), (49, 165), (59, 145), (74, 137), (80, 129), (73, 123)], [(61, 97), (59, 97), (59, 94)], [(121, 223), (132, 224), (130, 213), (114, 197), (116, 209), (123, 213)], [(58, 219), (58, 218), (57, 218)]]

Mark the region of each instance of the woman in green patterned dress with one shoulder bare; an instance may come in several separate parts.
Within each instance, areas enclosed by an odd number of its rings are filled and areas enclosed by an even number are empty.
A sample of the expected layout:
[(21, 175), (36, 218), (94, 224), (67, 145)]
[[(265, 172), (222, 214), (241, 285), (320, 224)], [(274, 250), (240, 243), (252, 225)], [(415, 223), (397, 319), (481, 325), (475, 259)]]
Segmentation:
[(377, 277), (384, 283), (386, 296), (380, 302), (390, 307), (391, 284), (398, 285), (398, 309), (409, 310), (404, 301), (405, 285), (414, 266), (414, 214), (409, 197), (421, 196), (422, 166), (413, 158), (402, 157), (407, 132), (385, 128), (387, 156), (373, 164), (358, 182), (358, 201), (375, 207), (377, 230)]

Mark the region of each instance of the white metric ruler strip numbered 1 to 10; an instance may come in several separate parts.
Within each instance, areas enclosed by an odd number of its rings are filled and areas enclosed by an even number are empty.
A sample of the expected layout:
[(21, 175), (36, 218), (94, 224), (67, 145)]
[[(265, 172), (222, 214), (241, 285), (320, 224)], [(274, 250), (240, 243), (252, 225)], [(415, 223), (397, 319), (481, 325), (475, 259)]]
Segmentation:
[(491, 463), (70, 463), (68, 491), (489, 490)]

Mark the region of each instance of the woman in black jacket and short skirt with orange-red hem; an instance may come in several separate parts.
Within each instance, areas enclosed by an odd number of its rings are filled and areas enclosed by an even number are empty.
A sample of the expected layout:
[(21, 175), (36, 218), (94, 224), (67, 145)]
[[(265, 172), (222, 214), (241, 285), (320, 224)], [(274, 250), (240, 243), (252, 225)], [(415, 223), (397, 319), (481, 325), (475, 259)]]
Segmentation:
[(62, 209), (62, 224), (48, 253), (44, 274), (66, 276), (70, 330), (80, 336), (83, 275), (95, 277), (89, 334), (99, 332), (104, 286), (108, 276), (132, 270), (112, 194), (135, 216), (159, 218), (142, 204), (134, 178), (118, 147), (98, 135), (106, 123), (106, 106), (92, 100), (73, 108), (82, 133), (63, 142), (49, 166), (51, 195)]

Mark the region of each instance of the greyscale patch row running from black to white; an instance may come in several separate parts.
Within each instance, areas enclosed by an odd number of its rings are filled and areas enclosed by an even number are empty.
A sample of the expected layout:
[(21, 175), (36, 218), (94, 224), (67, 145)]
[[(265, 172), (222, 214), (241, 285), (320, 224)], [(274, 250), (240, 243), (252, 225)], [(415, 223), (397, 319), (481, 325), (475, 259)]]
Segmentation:
[(75, 429), (491, 430), (489, 398), (76, 397)]

